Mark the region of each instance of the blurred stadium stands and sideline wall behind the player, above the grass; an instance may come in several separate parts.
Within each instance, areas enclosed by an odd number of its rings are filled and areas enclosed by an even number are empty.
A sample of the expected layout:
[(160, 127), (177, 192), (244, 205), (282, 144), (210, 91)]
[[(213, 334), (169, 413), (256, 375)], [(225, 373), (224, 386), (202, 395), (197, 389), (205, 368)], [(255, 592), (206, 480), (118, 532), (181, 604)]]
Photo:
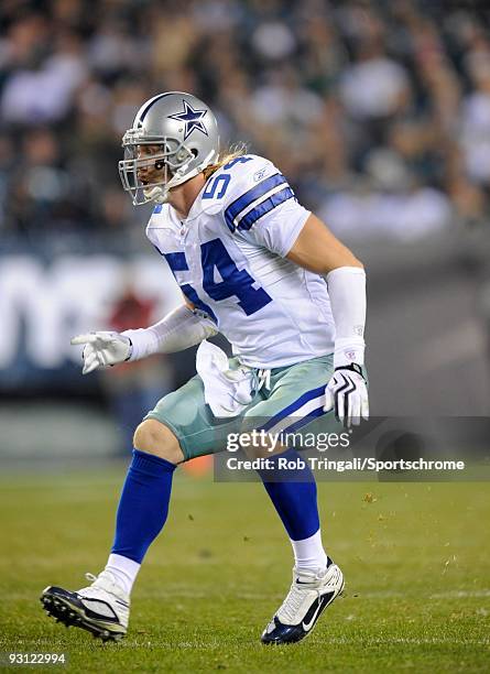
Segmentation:
[(193, 372), (185, 352), (83, 378), (68, 343), (178, 302), (117, 173), (134, 111), (172, 89), (214, 108), (224, 146), (271, 157), (364, 261), (373, 414), (488, 413), (488, 12), (6, 1), (0, 30), (3, 456), (126, 452), (112, 420), (133, 423), (137, 381), (143, 410)]

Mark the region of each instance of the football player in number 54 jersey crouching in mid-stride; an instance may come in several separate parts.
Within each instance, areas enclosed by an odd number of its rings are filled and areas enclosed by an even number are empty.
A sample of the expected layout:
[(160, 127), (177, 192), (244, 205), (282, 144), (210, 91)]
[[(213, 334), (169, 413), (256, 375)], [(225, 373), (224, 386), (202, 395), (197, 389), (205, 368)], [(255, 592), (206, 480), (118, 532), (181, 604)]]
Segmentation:
[[(281, 172), (253, 154), (221, 156), (213, 111), (178, 91), (148, 100), (122, 145), (123, 188), (134, 205), (155, 204), (146, 236), (183, 303), (146, 328), (75, 337), (83, 371), (203, 344), (199, 373), (135, 430), (105, 569), (78, 591), (50, 586), (41, 597), (50, 615), (102, 640), (127, 632), (131, 588), (165, 524), (179, 464), (222, 452), (229, 433), (284, 434), (319, 417), (338, 431), (369, 413), (363, 267), (298, 204)], [(232, 346), (225, 365), (205, 341), (218, 331)], [(297, 452), (280, 446), (270, 456)], [(283, 479), (259, 470), (294, 553), (293, 583), (262, 633), (266, 644), (309, 634), (344, 587), (322, 544), (315, 479), (303, 464)]]

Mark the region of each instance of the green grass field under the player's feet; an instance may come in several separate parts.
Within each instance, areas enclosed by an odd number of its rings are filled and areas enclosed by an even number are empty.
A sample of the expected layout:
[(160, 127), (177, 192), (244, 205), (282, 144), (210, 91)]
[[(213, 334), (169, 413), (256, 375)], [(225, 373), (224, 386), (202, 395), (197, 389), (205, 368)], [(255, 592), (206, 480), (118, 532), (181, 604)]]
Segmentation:
[(288, 588), (291, 551), (255, 483), (177, 476), (120, 644), (45, 616), (44, 586), (81, 587), (104, 566), (122, 476), (3, 478), (0, 651), (65, 653), (51, 670), (102, 674), (490, 671), (488, 483), (322, 483), (346, 596), (306, 641), (271, 649), (259, 638)]

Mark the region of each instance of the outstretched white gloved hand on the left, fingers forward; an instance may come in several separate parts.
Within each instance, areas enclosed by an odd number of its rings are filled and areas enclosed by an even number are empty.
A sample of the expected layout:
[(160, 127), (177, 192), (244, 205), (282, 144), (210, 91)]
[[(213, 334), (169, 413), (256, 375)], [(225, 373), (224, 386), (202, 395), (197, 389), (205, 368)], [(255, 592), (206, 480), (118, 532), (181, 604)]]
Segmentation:
[(129, 360), (132, 345), (129, 337), (119, 333), (88, 333), (77, 335), (70, 341), (73, 346), (83, 344), (84, 369), (81, 374), (88, 374), (97, 368), (106, 368)]

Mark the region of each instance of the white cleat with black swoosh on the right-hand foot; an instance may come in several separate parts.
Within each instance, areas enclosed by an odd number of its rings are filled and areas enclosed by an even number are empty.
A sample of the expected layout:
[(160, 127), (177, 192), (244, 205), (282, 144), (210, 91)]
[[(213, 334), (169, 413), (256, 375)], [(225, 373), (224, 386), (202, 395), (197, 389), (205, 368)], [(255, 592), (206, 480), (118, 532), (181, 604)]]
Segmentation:
[(342, 589), (344, 575), (334, 563), (322, 573), (294, 567), (291, 589), (263, 631), (262, 643), (294, 643), (307, 637)]

